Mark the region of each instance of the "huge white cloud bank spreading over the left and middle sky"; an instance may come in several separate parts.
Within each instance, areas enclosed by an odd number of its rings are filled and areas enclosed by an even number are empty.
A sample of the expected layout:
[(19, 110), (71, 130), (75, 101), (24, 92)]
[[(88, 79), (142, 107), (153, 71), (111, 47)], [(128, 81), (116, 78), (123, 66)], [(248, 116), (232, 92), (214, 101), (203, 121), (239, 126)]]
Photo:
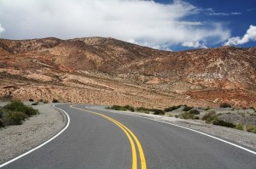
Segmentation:
[[(113, 37), (166, 48), (183, 42), (224, 42), (230, 31), (220, 23), (189, 20), (200, 8), (182, 0), (1, 0), (5, 38)], [(196, 46), (196, 45), (195, 45)]]

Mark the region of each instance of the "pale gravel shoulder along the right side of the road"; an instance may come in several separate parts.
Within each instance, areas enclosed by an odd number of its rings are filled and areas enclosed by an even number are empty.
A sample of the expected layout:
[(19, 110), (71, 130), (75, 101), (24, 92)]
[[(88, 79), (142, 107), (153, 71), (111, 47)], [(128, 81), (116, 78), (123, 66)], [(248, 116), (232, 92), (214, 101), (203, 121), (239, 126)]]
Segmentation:
[(87, 106), (87, 107), (91, 109), (105, 110), (113, 113), (138, 115), (138, 116), (143, 116), (143, 117), (147, 117), (147, 118), (158, 120), (158, 121), (166, 121), (175, 125), (195, 129), (197, 131), (205, 132), (218, 138), (224, 138), (232, 142), (235, 142), (237, 144), (245, 145), (247, 147), (256, 149), (256, 134), (252, 132), (236, 130), (234, 128), (228, 128), (228, 127), (219, 127), (212, 124), (207, 124), (205, 121), (201, 121), (201, 120), (183, 120), (183, 119), (179, 119), (175, 117), (167, 117), (163, 115), (151, 115), (151, 114), (143, 114), (143, 113), (137, 113), (137, 112), (131, 112), (131, 111), (106, 110), (104, 106)]

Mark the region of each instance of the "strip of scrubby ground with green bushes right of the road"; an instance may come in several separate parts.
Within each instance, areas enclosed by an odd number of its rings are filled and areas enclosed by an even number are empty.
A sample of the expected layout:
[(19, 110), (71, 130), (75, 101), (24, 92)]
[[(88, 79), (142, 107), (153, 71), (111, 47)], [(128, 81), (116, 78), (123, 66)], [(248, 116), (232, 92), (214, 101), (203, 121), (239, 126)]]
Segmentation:
[[(237, 130), (256, 133), (256, 110), (253, 107), (245, 109), (235, 109), (232, 108), (231, 105), (228, 103), (222, 103), (219, 104), (219, 108), (196, 108), (188, 105), (174, 105), (171, 107), (167, 107), (164, 110), (160, 110), (148, 109), (145, 107), (135, 108), (131, 105), (113, 105), (111, 107), (107, 107), (107, 109), (132, 112), (136, 111), (153, 115), (165, 115), (167, 117), (175, 117), (185, 120), (201, 120), (205, 121), (208, 124), (216, 126), (230, 127)], [(215, 110), (217, 110), (218, 113), (216, 113)], [(232, 113), (230, 113), (230, 111)], [(232, 121), (232, 115), (236, 115), (236, 117), (240, 116), (242, 122)], [(252, 118), (255, 118), (254, 123), (247, 121), (247, 119)]]

